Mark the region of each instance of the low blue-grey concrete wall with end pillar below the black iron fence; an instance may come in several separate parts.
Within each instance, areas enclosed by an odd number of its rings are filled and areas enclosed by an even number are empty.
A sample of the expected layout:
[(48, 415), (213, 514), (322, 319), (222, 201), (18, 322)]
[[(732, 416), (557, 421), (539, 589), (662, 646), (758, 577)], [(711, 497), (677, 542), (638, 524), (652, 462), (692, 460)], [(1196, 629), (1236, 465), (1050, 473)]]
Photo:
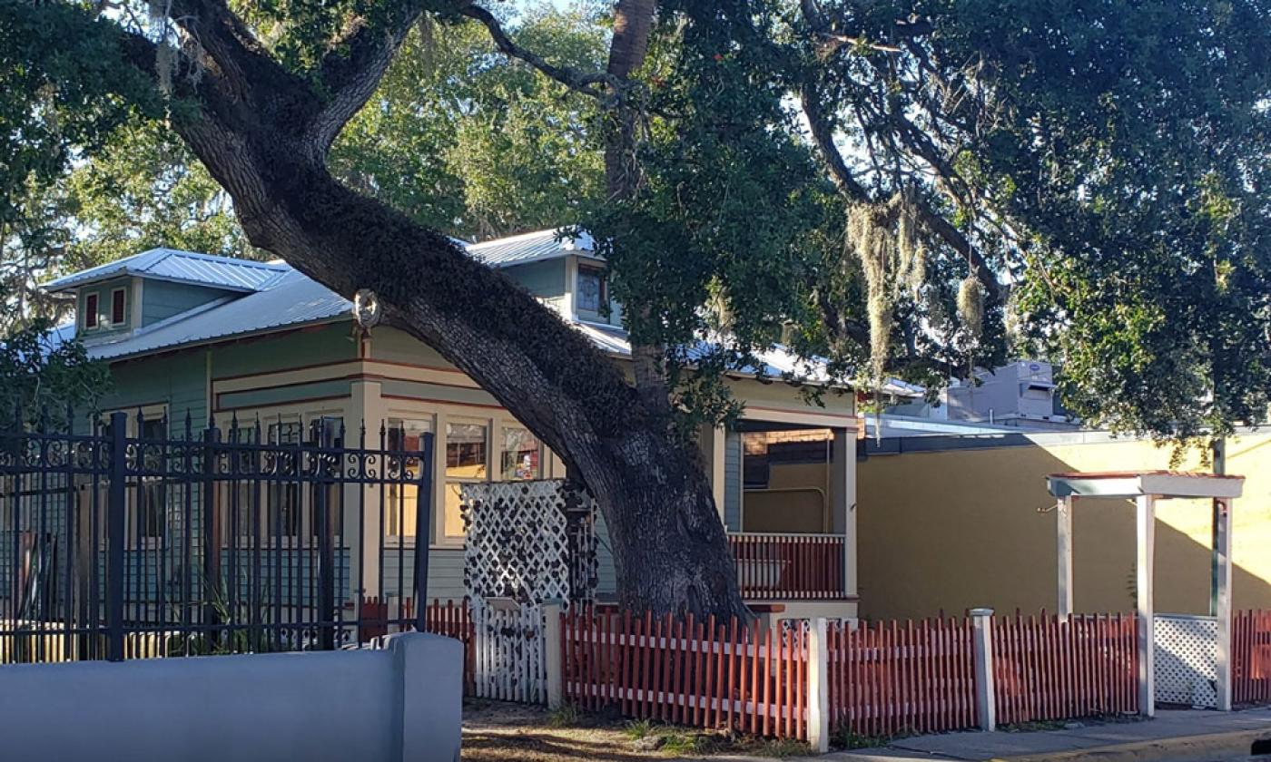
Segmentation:
[(459, 759), (463, 646), (0, 668), (6, 759)]

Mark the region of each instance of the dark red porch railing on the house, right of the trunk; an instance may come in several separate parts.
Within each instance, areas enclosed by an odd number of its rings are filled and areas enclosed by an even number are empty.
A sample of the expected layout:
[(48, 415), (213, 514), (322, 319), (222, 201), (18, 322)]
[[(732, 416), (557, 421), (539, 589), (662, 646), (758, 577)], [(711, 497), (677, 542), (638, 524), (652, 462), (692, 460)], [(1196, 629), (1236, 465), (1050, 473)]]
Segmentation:
[(843, 535), (728, 535), (744, 598), (845, 598)]

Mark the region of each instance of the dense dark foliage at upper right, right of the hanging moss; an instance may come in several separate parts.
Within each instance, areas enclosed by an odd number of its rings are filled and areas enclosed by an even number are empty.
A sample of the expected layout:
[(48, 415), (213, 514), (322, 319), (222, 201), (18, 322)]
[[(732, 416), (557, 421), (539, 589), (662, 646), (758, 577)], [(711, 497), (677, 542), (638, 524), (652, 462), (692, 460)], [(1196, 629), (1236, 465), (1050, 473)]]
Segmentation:
[[(915, 194), (933, 212), (921, 234), (932, 250), (979, 255), (1000, 286), (988, 343), (962, 343), (975, 359), (1051, 357), (1069, 405), (1113, 429), (1186, 438), (1265, 419), (1266, 3), (803, 11), (796, 85), (829, 112), (845, 196)], [(919, 309), (914, 328), (938, 334), (937, 312)]]

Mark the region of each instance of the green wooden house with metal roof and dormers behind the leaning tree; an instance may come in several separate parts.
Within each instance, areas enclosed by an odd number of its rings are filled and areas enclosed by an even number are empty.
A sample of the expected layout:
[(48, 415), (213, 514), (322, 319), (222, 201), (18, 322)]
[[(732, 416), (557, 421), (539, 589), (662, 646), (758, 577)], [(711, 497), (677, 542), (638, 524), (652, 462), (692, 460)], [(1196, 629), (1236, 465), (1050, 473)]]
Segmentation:
[[(545, 230), (466, 250), (553, 307), (614, 362), (629, 361), (622, 306), (609, 297), (605, 263), (586, 236)], [(114, 384), (102, 408), (127, 410), (130, 427), (149, 429), (132, 433), (167, 433), (160, 429), (169, 422), (175, 434), (187, 415), (224, 428), (259, 420), (261, 436), (272, 442), (315, 422), (323, 431), (383, 425), (405, 442), (432, 432), (435, 462), (426, 466), (435, 485), (432, 526), (414, 526), (411, 517), (379, 522), (383, 538), (403, 549), (389, 555), (404, 563), (413, 563), (417, 542), (430, 544), (430, 597), (464, 593), (464, 483), (564, 476), (550, 451), (433, 349), (393, 328), (361, 330), (348, 300), (283, 263), (153, 249), (46, 288), (75, 300), (75, 321), (57, 335), (80, 337), (92, 357), (109, 363)], [(769, 375), (810, 372), (780, 351), (764, 361)], [(816, 368), (811, 375), (815, 382)], [(738, 560), (747, 597), (780, 602), (792, 616), (810, 607), (852, 616), (853, 395), (826, 394), (822, 405), (813, 405), (785, 384), (747, 373), (730, 382), (745, 413), (731, 431), (703, 431), (700, 446), (721, 519), (738, 558), (747, 559)], [(604, 547), (602, 593), (614, 588)], [(816, 585), (796, 579), (796, 565), (824, 572), (826, 559), (833, 560), (833, 589), (820, 589), (827, 587), (824, 579)]]

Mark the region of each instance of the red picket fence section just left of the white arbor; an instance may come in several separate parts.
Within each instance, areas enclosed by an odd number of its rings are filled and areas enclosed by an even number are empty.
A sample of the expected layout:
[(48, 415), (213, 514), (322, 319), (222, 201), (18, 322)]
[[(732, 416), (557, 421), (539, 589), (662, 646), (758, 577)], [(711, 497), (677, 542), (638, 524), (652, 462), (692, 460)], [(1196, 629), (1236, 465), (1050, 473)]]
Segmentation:
[(994, 618), (993, 659), (999, 724), (1139, 710), (1131, 615)]

